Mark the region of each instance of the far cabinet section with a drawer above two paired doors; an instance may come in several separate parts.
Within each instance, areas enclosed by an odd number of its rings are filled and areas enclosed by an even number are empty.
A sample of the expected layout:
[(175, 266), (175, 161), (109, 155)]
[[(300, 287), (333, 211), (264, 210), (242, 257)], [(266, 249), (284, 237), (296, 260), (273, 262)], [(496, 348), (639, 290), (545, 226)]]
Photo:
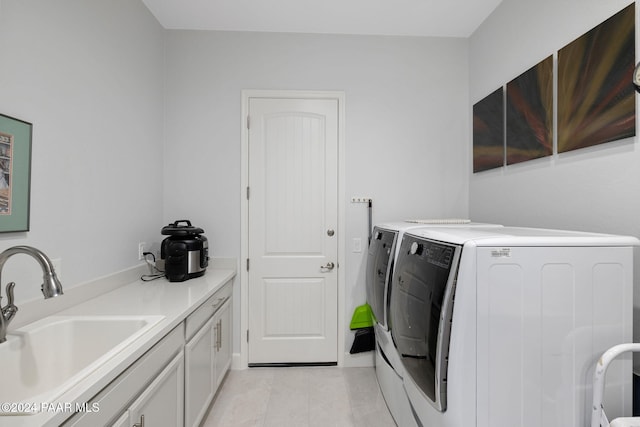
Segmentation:
[(200, 425), (231, 365), (231, 291), (223, 287), (187, 318), (186, 427)]

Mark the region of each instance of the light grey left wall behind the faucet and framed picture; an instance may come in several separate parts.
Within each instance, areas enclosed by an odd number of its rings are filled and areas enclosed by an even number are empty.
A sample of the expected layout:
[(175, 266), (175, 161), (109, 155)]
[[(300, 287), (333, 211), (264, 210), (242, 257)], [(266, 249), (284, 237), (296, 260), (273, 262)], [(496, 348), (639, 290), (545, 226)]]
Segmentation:
[[(162, 225), (162, 27), (137, 0), (0, 0), (0, 58), (0, 113), (34, 126), (30, 231), (0, 250), (42, 249), (65, 288), (138, 264)], [(18, 255), (2, 282), (20, 303), (41, 278)]]

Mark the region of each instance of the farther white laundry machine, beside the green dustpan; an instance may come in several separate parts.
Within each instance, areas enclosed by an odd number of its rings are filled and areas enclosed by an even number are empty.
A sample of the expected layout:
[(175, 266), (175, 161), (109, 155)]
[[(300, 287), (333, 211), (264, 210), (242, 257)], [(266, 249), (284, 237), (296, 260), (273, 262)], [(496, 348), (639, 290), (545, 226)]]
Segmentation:
[(376, 376), (389, 411), (400, 427), (417, 426), (404, 390), (404, 369), (390, 332), (389, 294), (399, 242), (410, 230), (437, 227), (500, 227), (469, 220), (412, 220), (379, 224), (369, 244), (366, 269), (367, 302), (376, 318)]

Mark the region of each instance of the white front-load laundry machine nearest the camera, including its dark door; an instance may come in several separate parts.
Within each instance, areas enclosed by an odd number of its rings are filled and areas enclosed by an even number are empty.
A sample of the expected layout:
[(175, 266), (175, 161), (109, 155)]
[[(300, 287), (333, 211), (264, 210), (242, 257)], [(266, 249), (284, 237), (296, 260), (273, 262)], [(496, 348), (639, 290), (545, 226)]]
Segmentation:
[[(417, 423), (587, 425), (598, 358), (632, 338), (639, 243), (512, 227), (408, 230), (388, 320)], [(629, 416), (631, 360), (614, 363), (605, 407)]]

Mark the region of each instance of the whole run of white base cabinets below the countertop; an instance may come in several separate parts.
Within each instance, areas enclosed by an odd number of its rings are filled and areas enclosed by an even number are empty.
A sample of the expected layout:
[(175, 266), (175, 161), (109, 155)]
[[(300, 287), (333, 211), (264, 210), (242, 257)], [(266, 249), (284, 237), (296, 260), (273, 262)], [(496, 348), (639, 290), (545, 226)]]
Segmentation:
[(90, 399), (98, 412), (62, 425), (198, 426), (231, 365), (232, 292), (229, 281)]

